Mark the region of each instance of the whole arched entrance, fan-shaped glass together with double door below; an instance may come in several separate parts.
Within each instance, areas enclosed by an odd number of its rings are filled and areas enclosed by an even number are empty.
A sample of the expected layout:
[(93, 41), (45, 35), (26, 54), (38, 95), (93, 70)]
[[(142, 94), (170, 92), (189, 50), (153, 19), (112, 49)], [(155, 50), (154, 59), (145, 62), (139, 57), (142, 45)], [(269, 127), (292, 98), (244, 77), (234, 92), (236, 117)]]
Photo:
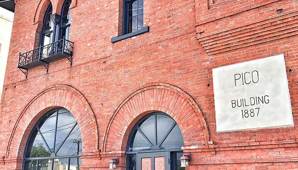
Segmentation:
[(178, 124), (163, 112), (144, 116), (132, 129), (127, 143), (127, 170), (140, 170), (144, 164), (158, 169), (181, 170), (183, 137)]

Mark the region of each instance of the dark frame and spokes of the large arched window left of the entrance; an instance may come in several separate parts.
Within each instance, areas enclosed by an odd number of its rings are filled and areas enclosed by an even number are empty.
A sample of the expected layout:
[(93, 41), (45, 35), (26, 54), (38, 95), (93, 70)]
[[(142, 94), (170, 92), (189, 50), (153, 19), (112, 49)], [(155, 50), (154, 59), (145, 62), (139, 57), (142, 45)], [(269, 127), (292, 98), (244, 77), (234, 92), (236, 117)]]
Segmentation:
[[(49, 118), (49, 117), (51, 117), (53, 114), (55, 114), (55, 112), (57, 112), (56, 114), (56, 122), (55, 122), (55, 136), (54, 136), (54, 143), (56, 143), (56, 134), (57, 134), (57, 124), (58, 124), (58, 115), (59, 114), (63, 114), (63, 113), (66, 113), (66, 112), (62, 112), (62, 113), (59, 113), (59, 110), (67, 110), (67, 109), (65, 109), (65, 108), (63, 108), (63, 107), (59, 107), (59, 108), (55, 108), (55, 109), (52, 109), (52, 110), (50, 110), (50, 111), (48, 111), (48, 112), (46, 112), (44, 115), (42, 115), (39, 119), (38, 119), (38, 121), (35, 123), (35, 125), (33, 126), (33, 128), (32, 128), (32, 130), (30, 131), (30, 134), (29, 134), (29, 137), (28, 137), (28, 139), (27, 139), (27, 141), (26, 141), (26, 145), (25, 145), (25, 149), (24, 149), (24, 153), (23, 153), (23, 163), (22, 163), (22, 170), (27, 170), (27, 169), (25, 169), (25, 166), (26, 166), (26, 161), (32, 161), (32, 160), (37, 160), (36, 161), (36, 170), (38, 170), (38, 164), (39, 164), (39, 160), (45, 160), (45, 159), (49, 159), (49, 160), (51, 160), (52, 161), (52, 165), (51, 165), (51, 167), (52, 167), (52, 170), (54, 170), (54, 160), (55, 159), (60, 159), (60, 158), (67, 158), (68, 160), (67, 160), (67, 162), (68, 162), (68, 165), (70, 164), (70, 161), (71, 161), (71, 159), (73, 159), (73, 158), (77, 158), (77, 161), (79, 162), (79, 160), (80, 160), (80, 155), (65, 155), (65, 156), (57, 156), (57, 155), (54, 155), (53, 153), (52, 153), (52, 151), (51, 151), (51, 155), (50, 156), (48, 156), (48, 157), (28, 157), (28, 152), (30, 153), (31, 152), (31, 149), (32, 148), (29, 148), (30, 146), (32, 147), (32, 142), (34, 142), (34, 140), (35, 139), (33, 139), (33, 136), (34, 136), (34, 134), (35, 134), (35, 128), (38, 128), (38, 126), (39, 125), (43, 125), (43, 123)], [(67, 112), (70, 112), (69, 110), (67, 110)], [(71, 112), (70, 112), (71, 113)], [(75, 126), (77, 125), (77, 122), (72, 126), (72, 130), (75, 128)], [(37, 129), (38, 130), (38, 132), (40, 132), (40, 129), (38, 128)], [(64, 144), (64, 142), (66, 142), (66, 139), (71, 135), (71, 132), (72, 132), (72, 130), (69, 132), (69, 134), (65, 137), (65, 139), (63, 139), (63, 141), (62, 141), (62, 143), (59, 145), (59, 147), (58, 147), (58, 149), (57, 149), (57, 151), (55, 151), (55, 145), (54, 145), (54, 148), (53, 148), (53, 150), (54, 150), (54, 152), (58, 152), (59, 151), (59, 149), (62, 147), (62, 145)], [(41, 133), (42, 134), (42, 133)], [(41, 135), (42, 136), (42, 135)], [(44, 140), (44, 137), (42, 137), (43, 138), (43, 140)], [(45, 140), (44, 140), (44, 142), (45, 142)], [(81, 141), (80, 141), (81, 142)], [(48, 146), (48, 144), (45, 142), (45, 144), (46, 144), (46, 147), (47, 148), (49, 148), (49, 146)], [(83, 148), (82, 148), (83, 149)], [(69, 167), (70, 166), (68, 166), (68, 170), (69, 170)]]

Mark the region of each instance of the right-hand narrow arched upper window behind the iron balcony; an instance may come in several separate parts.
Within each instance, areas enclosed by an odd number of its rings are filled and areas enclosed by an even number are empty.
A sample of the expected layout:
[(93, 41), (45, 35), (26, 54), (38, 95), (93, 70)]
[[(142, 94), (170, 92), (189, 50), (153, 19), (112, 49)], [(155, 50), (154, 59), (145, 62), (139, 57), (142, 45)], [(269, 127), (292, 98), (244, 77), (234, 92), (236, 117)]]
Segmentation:
[(65, 0), (61, 10), (61, 26), (60, 26), (60, 39), (65, 37), (65, 39), (69, 40), (69, 28), (70, 28), (70, 10), (69, 7), (72, 4), (71, 0)]

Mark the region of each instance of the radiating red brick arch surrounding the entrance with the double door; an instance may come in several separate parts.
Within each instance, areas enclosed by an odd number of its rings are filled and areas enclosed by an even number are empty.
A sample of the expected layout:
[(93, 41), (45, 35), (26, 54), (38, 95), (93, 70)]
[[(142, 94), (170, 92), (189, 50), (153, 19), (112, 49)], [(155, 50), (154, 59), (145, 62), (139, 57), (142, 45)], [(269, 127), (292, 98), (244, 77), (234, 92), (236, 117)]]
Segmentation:
[(132, 127), (153, 111), (165, 112), (177, 122), (185, 146), (208, 143), (207, 124), (193, 98), (176, 86), (157, 83), (135, 91), (115, 110), (105, 131), (103, 152), (125, 151)]

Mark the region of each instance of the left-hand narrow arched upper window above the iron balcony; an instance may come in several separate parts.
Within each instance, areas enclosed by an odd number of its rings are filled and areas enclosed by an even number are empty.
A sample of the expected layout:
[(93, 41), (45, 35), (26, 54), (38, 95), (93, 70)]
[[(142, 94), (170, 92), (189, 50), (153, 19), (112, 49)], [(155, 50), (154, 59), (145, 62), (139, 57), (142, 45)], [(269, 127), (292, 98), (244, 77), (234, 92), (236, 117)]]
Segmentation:
[(50, 3), (44, 14), (44, 25), (41, 31), (41, 38), (39, 44), (41, 46), (52, 43), (53, 40), (53, 28), (54, 24), (51, 21), (51, 15), (53, 12), (52, 4)]

